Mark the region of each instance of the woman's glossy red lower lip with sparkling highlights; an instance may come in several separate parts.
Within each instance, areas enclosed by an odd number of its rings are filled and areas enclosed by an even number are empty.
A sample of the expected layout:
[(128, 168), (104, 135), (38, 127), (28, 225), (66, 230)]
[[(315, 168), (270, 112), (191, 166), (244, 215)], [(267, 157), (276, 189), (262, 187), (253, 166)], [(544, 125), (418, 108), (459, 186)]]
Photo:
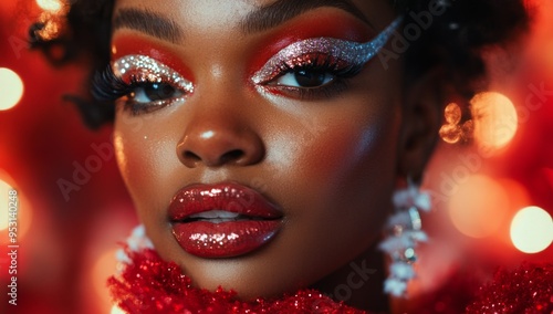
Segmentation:
[(196, 221), (174, 223), (173, 234), (192, 255), (233, 258), (260, 249), (274, 238), (279, 229), (280, 220)]

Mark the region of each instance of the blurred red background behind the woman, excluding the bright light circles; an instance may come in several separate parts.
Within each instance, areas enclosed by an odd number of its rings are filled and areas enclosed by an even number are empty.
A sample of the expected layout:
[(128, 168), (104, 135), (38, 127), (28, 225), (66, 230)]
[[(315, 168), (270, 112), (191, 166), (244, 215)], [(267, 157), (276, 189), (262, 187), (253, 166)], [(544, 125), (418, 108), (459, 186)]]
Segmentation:
[[(530, 85), (544, 84), (553, 91), (553, 6), (533, 1), (535, 17), (529, 40), (520, 46), (522, 60), (508, 77), (498, 71), (492, 87), (523, 106)], [(93, 133), (80, 121), (62, 95), (82, 90), (79, 66), (54, 69), (38, 52), (27, 50), (27, 29), (40, 9), (34, 1), (0, 2), (0, 67), (9, 67), (23, 80), (25, 91), (19, 105), (0, 112), (0, 179), (19, 191), (20, 233), (18, 255), (18, 306), (8, 306), (6, 259), (7, 232), (0, 231), (1, 313), (106, 313), (104, 282), (114, 273), (113, 251), (137, 221), (133, 205), (113, 157), (101, 159), (80, 190), (66, 200), (59, 180), (73, 181), (75, 169), (98, 156), (92, 144), (111, 143), (111, 129)], [(549, 15), (547, 15), (549, 14)], [(4, 82), (0, 82), (3, 84)], [(0, 95), (1, 97), (1, 95)], [(520, 113), (522, 114), (522, 113)], [(505, 217), (524, 206), (539, 206), (553, 214), (553, 93), (544, 105), (529, 111), (519, 122), (514, 139), (500, 154), (483, 158), (479, 174), (504, 186), (513, 198)], [(428, 188), (439, 190), (441, 174), (459, 166), (458, 156), (473, 147), (440, 144), (427, 175)], [(509, 187), (514, 187), (512, 190)], [(522, 189), (520, 188), (522, 187)], [(7, 197), (0, 196), (0, 201)], [(519, 202), (519, 203), (518, 203)], [(432, 242), (422, 249), (420, 291), (447, 282), (451, 269), (491, 274), (495, 265), (515, 266), (522, 261), (553, 260), (553, 248), (536, 254), (518, 251), (509, 238), (510, 219), (490, 236), (474, 239), (452, 226), (447, 203), (437, 203), (425, 226)], [(488, 219), (493, 220), (490, 216)], [(451, 248), (456, 248), (451, 250)], [(426, 257), (426, 258), (425, 258)]]

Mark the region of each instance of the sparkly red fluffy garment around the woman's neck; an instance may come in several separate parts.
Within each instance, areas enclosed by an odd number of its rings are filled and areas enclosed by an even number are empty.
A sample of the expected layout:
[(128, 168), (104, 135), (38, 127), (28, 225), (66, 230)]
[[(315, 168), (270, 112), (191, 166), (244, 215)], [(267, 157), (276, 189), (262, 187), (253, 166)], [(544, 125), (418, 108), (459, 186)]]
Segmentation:
[[(366, 313), (315, 290), (301, 290), (279, 300), (239, 301), (236, 292), (222, 287), (215, 292), (192, 287), (190, 278), (181, 274), (176, 263), (163, 261), (154, 250), (127, 250), (127, 255), (132, 262), (125, 265), (121, 278), (108, 280), (115, 302), (127, 313)], [(499, 271), (492, 283), (480, 287), (466, 311), (553, 313), (553, 264), (523, 264), (512, 272)]]

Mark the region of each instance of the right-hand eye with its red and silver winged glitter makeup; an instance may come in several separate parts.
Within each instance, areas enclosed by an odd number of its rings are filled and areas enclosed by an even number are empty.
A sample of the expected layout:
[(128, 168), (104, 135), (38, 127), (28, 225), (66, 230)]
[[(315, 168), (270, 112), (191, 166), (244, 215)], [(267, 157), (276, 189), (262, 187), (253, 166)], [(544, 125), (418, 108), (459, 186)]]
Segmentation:
[(395, 19), (368, 42), (312, 38), (294, 42), (271, 56), (251, 82), (268, 91), (300, 100), (325, 98), (345, 91), (401, 23)]

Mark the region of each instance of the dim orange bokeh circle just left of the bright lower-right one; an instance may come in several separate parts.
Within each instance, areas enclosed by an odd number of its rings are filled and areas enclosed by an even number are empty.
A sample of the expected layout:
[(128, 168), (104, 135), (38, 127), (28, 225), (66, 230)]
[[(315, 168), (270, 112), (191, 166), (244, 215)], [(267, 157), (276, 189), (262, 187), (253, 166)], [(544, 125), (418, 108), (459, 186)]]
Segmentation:
[(449, 199), (449, 216), (465, 236), (484, 238), (499, 229), (509, 208), (509, 196), (495, 180), (471, 175)]

